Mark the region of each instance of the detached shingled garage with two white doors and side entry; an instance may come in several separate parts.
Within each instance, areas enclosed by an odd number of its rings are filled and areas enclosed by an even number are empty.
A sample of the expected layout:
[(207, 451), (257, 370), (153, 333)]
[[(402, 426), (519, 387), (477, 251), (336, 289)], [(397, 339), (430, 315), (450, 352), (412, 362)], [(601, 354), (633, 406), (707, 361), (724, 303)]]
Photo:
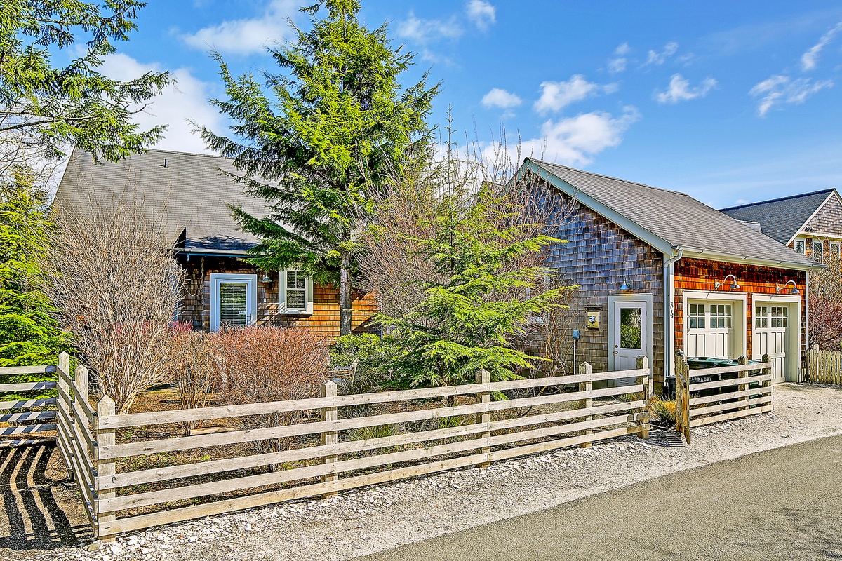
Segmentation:
[(775, 382), (800, 379), (816, 266), (807, 256), (685, 193), (530, 158), (519, 173), (540, 177), (558, 209), (551, 234), (568, 243), (552, 246), (549, 262), (581, 285), (578, 361), (621, 370), (646, 355), (657, 384), (674, 376), (676, 351), (769, 353)]

